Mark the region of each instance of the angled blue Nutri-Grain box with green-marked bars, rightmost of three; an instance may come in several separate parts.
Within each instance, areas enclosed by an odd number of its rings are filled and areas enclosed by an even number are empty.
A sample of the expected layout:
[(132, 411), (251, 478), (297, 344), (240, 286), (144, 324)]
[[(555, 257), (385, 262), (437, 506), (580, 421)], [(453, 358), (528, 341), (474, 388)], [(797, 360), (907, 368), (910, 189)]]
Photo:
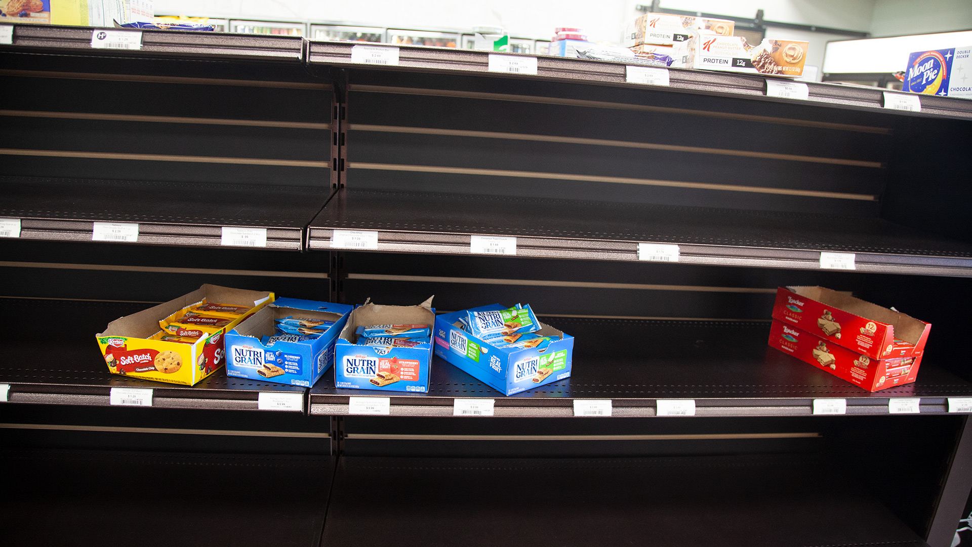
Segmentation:
[(439, 315), (435, 318), (435, 354), (504, 395), (570, 378), (573, 336), (539, 322), (541, 328), (533, 334), (553, 339), (549, 345), (497, 347), (464, 331), (459, 322), (467, 311), (505, 309), (494, 304)]

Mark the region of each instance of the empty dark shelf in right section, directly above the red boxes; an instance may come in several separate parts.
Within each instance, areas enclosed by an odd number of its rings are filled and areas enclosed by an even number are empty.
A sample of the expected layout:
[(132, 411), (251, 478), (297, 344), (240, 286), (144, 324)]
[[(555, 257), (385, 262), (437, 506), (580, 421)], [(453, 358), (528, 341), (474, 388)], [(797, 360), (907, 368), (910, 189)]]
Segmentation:
[(638, 243), (676, 243), (685, 264), (817, 269), (821, 251), (856, 253), (858, 272), (972, 275), (972, 244), (880, 218), (641, 203), (346, 190), (309, 229), (378, 232), (379, 251), (469, 254), (469, 237), (517, 237), (517, 256), (638, 260)]

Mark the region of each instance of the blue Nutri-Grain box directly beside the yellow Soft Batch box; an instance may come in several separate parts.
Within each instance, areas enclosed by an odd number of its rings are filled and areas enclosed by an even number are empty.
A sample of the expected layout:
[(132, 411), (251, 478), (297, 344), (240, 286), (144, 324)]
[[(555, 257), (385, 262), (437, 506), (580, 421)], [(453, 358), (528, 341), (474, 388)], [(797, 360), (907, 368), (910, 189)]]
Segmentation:
[[(226, 376), (310, 387), (334, 362), (334, 341), (353, 309), (330, 302), (277, 299), (226, 333)], [(278, 340), (266, 345), (260, 342), (264, 336), (278, 334), (275, 319), (289, 316), (324, 319), (334, 324), (310, 340), (293, 336), (293, 341)]]

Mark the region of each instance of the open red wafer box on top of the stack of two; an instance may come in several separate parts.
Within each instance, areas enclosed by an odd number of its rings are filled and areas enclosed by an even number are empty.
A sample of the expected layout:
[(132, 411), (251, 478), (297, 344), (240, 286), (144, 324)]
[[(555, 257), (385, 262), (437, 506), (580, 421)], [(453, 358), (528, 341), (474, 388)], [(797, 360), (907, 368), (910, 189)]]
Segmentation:
[(780, 287), (773, 318), (871, 359), (918, 357), (931, 324), (823, 287)]

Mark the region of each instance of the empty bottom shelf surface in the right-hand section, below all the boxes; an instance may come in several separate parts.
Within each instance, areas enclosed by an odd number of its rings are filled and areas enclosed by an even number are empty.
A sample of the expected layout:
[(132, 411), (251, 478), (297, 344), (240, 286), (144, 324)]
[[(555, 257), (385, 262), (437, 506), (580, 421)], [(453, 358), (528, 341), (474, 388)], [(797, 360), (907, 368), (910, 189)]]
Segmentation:
[(925, 545), (835, 468), (808, 456), (344, 456), (321, 545)]

